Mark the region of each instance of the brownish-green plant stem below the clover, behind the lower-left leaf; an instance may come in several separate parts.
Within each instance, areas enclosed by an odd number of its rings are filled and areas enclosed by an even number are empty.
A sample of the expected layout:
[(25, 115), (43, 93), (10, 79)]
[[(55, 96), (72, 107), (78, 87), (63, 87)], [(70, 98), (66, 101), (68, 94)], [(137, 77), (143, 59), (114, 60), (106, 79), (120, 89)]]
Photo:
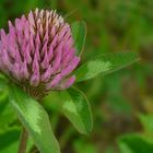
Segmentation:
[(20, 138), (20, 145), (19, 145), (19, 152), (17, 153), (25, 153), (26, 152), (26, 144), (28, 140), (28, 133), (23, 128), (21, 138)]

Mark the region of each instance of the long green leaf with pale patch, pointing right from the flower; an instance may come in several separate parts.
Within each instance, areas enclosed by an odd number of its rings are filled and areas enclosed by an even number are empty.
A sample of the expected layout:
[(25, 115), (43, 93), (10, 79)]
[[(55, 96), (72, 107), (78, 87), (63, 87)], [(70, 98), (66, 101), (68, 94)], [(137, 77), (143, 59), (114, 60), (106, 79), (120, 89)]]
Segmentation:
[(74, 74), (76, 75), (76, 81), (85, 81), (96, 75), (105, 75), (117, 71), (121, 68), (132, 64), (138, 61), (139, 57), (136, 52), (114, 52), (99, 56), (91, 61), (87, 61), (81, 66)]

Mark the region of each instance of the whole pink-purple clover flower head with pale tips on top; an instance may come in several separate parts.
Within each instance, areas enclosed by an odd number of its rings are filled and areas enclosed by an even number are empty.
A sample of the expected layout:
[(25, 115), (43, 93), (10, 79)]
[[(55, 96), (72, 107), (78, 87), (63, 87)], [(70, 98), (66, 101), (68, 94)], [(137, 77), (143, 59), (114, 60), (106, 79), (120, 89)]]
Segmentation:
[(36, 9), (9, 21), (9, 33), (0, 31), (0, 71), (17, 83), (49, 90), (70, 87), (76, 57), (71, 28), (56, 11)]

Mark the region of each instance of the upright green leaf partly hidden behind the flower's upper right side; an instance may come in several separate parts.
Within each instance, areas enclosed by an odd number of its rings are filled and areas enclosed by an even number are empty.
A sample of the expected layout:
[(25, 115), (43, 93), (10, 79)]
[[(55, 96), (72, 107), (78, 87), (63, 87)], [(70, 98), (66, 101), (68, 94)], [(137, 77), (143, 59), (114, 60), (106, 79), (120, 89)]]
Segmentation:
[(84, 21), (74, 22), (71, 24), (71, 28), (74, 38), (74, 46), (76, 48), (76, 55), (81, 55), (86, 38), (86, 24)]

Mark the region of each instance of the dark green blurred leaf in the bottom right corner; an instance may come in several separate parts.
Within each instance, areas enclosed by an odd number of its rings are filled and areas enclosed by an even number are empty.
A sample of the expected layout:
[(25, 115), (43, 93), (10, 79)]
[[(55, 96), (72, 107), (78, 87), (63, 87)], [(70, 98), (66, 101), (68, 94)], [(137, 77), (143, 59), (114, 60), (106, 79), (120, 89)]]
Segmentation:
[(131, 153), (151, 153), (153, 151), (153, 143), (145, 141), (137, 134), (125, 136), (119, 140), (119, 143), (125, 146), (127, 145), (127, 149), (129, 148), (129, 152), (131, 151)]

